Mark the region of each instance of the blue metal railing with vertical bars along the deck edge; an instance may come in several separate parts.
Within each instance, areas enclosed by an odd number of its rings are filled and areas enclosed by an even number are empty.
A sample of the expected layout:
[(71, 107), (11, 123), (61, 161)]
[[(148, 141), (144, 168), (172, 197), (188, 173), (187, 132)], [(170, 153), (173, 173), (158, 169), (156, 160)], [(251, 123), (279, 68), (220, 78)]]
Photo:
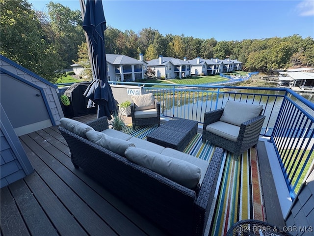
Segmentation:
[[(227, 83), (235, 81), (238, 80)], [(149, 83), (145, 83), (144, 89), (157, 97), (162, 116), (187, 118), (200, 123), (203, 123), (205, 112), (224, 107), (228, 100), (262, 104), (262, 114), (266, 118), (261, 135), (269, 137), (276, 150), (292, 199), (307, 171), (314, 165), (314, 104), (290, 89)]]

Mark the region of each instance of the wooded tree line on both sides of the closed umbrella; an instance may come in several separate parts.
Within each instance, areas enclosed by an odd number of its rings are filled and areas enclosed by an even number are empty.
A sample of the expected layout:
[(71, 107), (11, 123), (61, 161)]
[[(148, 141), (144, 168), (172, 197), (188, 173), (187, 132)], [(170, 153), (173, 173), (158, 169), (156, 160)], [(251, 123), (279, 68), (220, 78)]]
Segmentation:
[[(79, 10), (49, 2), (47, 11), (35, 11), (27, 0), (0, 0), (0, 53), (43, 78), (55, 82), (73, 62), (86, 63), (87, 47)], [(314, 40), (291, 35), (283, 38), (217, 41), (182, 35), (162, 35), (145, 28), (136, 33), (110, 25), (105, 49), (145, 60), (159, 55), (183, 59), (238, 59), (247, 71), (272, 72), (290, 66), (314, 66)]]

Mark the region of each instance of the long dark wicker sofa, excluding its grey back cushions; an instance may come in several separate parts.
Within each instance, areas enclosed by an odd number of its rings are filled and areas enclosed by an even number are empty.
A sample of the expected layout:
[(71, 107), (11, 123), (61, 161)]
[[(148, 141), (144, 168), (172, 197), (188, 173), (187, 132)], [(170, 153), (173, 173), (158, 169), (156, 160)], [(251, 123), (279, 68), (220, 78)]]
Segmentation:
[[(125, 140), (127, 137), (120, 131), (108, 129), (105, 117), (87, 124), (96, 131), (112, 134), (116, 138)], [(210, 162), (207, 162), (201, 185), (190, 189), (64, 127), (58, 129), (68, 143), (75, 168), (83, 169), (130, 207), (150, 218), (168, 235), (204, 234), (221, 167), (222, 148), (216, 148)], [(144, 145), (143, 148), (152, 148), (151, 145), (156, 145), (134, 137), (130, 140), (136, 147)], [(155, 147), (157, 152), (166, 151), (169, 156), (205, 162), (171, 148)]]

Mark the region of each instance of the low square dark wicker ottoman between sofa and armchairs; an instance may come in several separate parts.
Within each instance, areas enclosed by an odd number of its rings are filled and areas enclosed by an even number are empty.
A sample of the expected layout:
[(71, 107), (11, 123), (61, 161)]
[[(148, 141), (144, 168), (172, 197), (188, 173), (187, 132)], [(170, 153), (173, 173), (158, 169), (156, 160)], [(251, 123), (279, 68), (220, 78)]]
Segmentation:
[(147, 141), (183, 151), (197, 133), (197, 121), (173, 118), (146, 136)]

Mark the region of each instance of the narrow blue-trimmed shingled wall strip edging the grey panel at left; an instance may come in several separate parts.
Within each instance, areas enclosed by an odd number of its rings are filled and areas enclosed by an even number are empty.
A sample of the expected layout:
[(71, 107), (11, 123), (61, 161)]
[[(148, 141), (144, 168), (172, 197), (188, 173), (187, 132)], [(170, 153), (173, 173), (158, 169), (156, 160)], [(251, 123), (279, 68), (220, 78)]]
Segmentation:
[(37, 87), (43, 89), (45, 98), (47, 100), (48, 109), (50, 110), (52, 116), (52, 125), (60, 124), (59, 120), (60, 118), (64, 117), (64, 115), (59, 102), (59, 97), (57, 94), (58, 89), (56, 86), (3, 56), (0, 57), (0, 67), (1, 70), (3, 69), (3, 71), (8, 71), (14, 75), (17, 75), (19, 78), (28, 81), (30, 84), (34, 84)]

